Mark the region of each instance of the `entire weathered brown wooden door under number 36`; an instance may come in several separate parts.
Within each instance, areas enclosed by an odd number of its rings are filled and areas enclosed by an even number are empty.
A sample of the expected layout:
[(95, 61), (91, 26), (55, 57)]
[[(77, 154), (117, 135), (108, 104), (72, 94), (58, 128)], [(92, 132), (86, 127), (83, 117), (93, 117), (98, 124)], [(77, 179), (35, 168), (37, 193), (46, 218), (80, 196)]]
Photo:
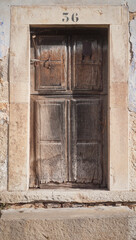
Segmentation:
[(106, 187), (107, 30), (33, 32), (30, 186)]

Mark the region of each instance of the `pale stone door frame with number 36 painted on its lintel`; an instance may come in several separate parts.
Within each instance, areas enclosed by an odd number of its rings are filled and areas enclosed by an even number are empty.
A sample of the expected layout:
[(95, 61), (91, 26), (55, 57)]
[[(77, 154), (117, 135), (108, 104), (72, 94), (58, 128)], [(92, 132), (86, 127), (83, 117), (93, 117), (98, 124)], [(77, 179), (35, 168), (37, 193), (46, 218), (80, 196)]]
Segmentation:
[[(64, 13), (68, 13), (68, 22), (63, 21)], [(73, 22), (73, 13), (78, 15), (77, 22)], [(29, 190), (30, 26), (38, 25), (109, 29), (108, 189), (128, 190), (129, 41), (128, 9), (125, 6), (11, 7), (8, 190)]]

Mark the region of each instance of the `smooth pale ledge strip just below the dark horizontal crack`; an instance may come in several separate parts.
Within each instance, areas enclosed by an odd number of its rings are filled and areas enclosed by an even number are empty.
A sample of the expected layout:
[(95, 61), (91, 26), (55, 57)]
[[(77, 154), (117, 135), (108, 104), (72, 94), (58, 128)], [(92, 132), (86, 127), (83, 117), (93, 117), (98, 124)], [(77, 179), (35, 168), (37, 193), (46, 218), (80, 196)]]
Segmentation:
[(132, 210), (127, 207), (93, 207), (93, 208), (65, 208), (65, 209), (8, 209), (1, 211), (1, 219), (69, 219), (84, 217), (109, 217), (109, 216), (135, 216)]

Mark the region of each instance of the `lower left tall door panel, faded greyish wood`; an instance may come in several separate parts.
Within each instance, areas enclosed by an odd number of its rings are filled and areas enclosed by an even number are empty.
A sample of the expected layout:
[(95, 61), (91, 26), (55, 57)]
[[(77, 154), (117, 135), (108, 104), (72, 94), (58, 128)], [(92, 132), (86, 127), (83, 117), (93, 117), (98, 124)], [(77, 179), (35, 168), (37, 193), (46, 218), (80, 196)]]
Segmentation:
[(36, 101), (36, 161), (39, 183), (67, 180), (66, 101)]

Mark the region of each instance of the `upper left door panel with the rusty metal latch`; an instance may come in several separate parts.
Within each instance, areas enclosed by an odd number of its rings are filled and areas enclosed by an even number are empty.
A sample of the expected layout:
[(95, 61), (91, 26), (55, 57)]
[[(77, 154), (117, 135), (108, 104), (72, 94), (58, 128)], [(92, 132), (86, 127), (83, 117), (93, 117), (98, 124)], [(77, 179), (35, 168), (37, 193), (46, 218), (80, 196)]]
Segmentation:
[(67, 87), (67, 40), (65, 36), (37, 36), (36, 90)]

